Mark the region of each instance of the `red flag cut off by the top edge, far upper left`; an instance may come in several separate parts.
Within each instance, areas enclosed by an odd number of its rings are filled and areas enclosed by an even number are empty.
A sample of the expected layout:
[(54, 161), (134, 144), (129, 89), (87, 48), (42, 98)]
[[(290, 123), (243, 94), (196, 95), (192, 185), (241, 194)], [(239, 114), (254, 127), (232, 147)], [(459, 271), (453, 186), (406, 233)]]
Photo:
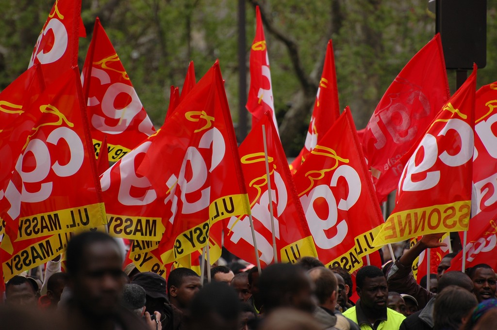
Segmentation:
[(47, 85), (78, 66), (79, 38), (86, 32), (81, 19), (81, 0), (56, 0), (38, 36), (29, 66), (40, 64)]

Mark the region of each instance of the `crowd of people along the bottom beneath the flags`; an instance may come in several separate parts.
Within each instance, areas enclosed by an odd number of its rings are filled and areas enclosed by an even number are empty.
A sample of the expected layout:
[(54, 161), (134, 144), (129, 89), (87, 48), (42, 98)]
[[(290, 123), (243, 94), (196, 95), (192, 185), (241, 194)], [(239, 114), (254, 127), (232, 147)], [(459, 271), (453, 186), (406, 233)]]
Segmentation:
[(260, 273), (215, 266), (207, 283), (188, 268), (171, 270), (167, 280), (133, 266), (123, 271), (115, 239), (86, 232), (68, 244), (66, 272), (48, 264), (41, 286), (24, 276), (6, 283), (0, 330), (493, 329), (496, 273), (489, 265), (446, 271), (453, 258), (447, 255), (429, 278), (430, 291), (415, 281), (415, 257), (437, 238), (423, 236), (383, 269), (361, 267), (355, 283), (343, 268), (311, 257)]

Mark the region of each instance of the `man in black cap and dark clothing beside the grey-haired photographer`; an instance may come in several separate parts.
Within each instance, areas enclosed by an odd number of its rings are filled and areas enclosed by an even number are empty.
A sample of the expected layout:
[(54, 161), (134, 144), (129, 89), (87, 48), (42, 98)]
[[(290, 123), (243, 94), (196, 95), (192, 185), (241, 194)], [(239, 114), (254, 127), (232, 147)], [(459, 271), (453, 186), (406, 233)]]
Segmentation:
[(154, 315), (160, 313), (162, 330), (177, 330), (181, 326), (182, 313), (167, 299), (166, 279), (151, 271), (135, 275), (132, 284), (141, 286), (146, 293), (145, 311)]

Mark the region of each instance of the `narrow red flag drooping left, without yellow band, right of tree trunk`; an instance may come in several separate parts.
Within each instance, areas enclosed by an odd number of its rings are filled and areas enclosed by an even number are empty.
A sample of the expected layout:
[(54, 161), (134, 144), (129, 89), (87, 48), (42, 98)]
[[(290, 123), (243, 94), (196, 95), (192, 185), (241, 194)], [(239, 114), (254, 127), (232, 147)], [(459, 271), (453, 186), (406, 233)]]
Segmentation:
[(290, 170), (295, 174), (300, 165), (306, 160), (312, 149), (325, 136), (331, 125), (340, 116), (338, 106), (338, 87), (336, 85), (335, 57), (331, 40), (326, 49), (325, 65), (319, 82), (318, 94), (311, 116), (311, 123), (307, 131), (306, 141), (300, 154), (290, 165)]

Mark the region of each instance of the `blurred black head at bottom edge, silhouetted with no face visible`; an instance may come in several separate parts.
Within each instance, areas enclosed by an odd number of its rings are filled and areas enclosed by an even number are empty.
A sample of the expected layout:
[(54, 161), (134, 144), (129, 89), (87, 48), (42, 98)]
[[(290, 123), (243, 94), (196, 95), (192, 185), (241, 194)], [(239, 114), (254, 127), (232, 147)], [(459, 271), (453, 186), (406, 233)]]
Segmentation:
[(238, 330), (239, 321), (240, 303), (235, 290), (212, 282), (192, 299), (185, 324), (188, 330)]

